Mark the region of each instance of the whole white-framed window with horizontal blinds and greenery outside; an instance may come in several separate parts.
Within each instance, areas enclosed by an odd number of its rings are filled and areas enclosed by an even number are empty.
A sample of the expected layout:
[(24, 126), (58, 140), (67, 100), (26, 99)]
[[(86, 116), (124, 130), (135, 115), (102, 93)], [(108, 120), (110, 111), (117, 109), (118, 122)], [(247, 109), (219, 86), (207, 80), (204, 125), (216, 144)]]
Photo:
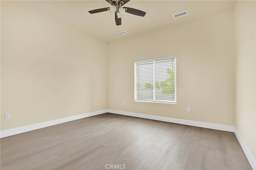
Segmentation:
[(134, 101), (176, 104), (176, 56), (134, 61)]

